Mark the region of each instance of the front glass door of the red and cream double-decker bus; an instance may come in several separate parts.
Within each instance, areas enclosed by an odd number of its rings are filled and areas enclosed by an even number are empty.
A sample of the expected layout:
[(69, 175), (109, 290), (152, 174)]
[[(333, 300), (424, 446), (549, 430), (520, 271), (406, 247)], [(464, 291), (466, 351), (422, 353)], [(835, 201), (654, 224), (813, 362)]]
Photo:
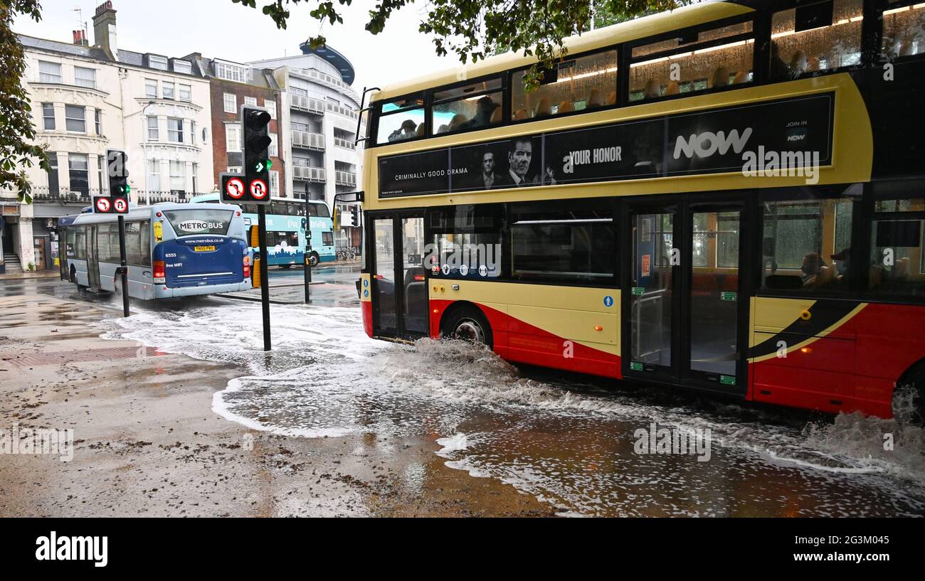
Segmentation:
[(427, 335), (424, 216), (373, 218), (373, 330), (379, 337)]

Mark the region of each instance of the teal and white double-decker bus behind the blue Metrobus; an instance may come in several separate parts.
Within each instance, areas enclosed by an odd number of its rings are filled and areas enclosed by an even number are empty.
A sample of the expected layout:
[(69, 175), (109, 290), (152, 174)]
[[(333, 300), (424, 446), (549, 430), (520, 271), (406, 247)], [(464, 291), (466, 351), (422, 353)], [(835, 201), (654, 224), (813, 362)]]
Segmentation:
[[(191, 204), (218, 202), (218, 193), (205, 193), (193, 197)], [(244, 221), (248, 226), (257, 225), (257, 206), (240, 204)], [(272, 198), (266, 211), (266, 253), (267, 266), (302, 265), (305, 249), (305, 201), (290, 198)], [(334, 222), (327, 204), (320, 200), (308, 203), (309, 229), (312, 232), (311, 265), (331, 262), (337, 258), (334, 253)], [(251, 249), (255, 256), (256, 248)]]

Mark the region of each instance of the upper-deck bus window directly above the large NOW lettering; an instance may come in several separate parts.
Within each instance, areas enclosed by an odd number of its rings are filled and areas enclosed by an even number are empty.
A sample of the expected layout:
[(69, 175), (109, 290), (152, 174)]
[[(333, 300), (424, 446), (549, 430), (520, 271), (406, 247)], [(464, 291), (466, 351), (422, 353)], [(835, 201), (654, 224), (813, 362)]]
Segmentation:
[(634, 46), (629, 101), (751, 82), (752, 34), (747, 21)]

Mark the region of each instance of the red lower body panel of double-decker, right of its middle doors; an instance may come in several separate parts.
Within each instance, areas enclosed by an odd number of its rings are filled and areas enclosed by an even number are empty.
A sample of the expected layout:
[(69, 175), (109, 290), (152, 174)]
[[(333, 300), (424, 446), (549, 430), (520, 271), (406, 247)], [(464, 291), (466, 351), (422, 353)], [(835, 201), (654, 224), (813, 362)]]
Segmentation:
[(749, 399), (892, 417), (894, 383), (925, 356), (922, 329), (921, 307), (868, 304), (825, 338), (769, 334), (789, 344), (809, 342), (785, 358), (749, 365)]

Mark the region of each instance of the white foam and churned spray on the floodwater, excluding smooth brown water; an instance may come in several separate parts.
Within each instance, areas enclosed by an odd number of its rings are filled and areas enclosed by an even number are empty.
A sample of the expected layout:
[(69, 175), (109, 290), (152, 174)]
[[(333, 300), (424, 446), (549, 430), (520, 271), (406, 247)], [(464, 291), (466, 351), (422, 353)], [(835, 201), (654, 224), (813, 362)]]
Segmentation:
[[(781, 422), (781, 416), (771, 414), (771, 421), (766, 421), (765, 412), (734, 404), (704, 411), (666, 404), (664, 399), (652, 402), (635, 393), (583, 386), (576, 392), (574, 383), (550, 385), (523, 377), (493, 352), (462, 341), (424, 339), (407, 346), (370, 340), (355, 307), (271, 305), (271, 311), (274, 352), (269, 358), (262, 351), (258, 303), (183, 312), (142, 310), (129, 318), (106, 319), (101, 326), (105, 338), (137, 340), (164, 352), (240, 366), (242, 377), (213, 397), (213, 410), (229, 420), (304, 438), (370, 430), (384, 435), (436, 432), (446, 435), (437, 442), (438, 454), (448, 458), (448, 466), (472, 476), (498, 478), (563, 513), (600, 509), (600, 499), (587, 498), (580, 490), (598, 486), (598, 475), (567, 475), (570, 468), (554, 459), (540, 465), (513, 463), (492, 451), (492, 434), (479, 432), (473, 439), (458, 426), (486, 411), (572, 418), (587, 425), (656, 422), (685, 431), (709, 429), (714, 453), (727, 449), (833, 478), (889, 476), (916, 487), (925, 484), (923, 432), (904, 423), (903, 417), (881, 420), (842, 414), (832, 423), (800, 429)], [(495, 429), (500, 434), (504, 428)], [(884, 433), (894, 434), (895, 448), (889, 453), (883, 450)], [(573, 477), (568, 487), (563, 485), (565, 476)], [(635, 494), (633, 479), (665, 483), (664, 475), (634, 475), (620, 485), (628, 497)], [(666, 486), (683, 495), (688, 485), (678, 480)], [(918, 502), (918, 491), (910, 494), (909, 502)], [(676, 511), (692, 512), (709, 515), (689, 506)]]

